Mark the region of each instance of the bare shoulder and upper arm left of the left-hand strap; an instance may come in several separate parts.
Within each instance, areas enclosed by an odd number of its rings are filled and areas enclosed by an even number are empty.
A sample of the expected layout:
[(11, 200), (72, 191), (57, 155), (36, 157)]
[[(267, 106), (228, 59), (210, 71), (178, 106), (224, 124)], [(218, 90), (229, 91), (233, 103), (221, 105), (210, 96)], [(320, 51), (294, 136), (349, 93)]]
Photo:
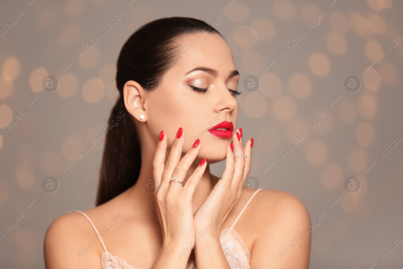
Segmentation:
[(99, 259), (102, 246), (88, 247), (96, 237), (90, 223), (80, 213), (58, 217), (49, 226), (44, 239), (46, 268), (66, 269), (73, 263), (79, 267), (102, 268)]

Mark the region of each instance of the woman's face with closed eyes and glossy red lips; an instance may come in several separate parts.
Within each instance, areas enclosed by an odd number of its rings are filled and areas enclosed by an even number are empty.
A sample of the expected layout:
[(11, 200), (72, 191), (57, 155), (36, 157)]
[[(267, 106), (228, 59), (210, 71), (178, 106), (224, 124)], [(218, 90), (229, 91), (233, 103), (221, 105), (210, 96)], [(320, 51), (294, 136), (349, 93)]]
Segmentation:
[[(237, 129), (238, 97), (232, 91), (237, 91), (239, 75), (231, 50), (216, 33), (185, 35), (177, 50), (179, 58), (163, 74), (158, 90), (147, 94), (147, 126), (156, 139), (163, 130), (169, 147), (182, 127), (183, 153), (199, 138), (198, 158), (221, 161)], [(219, 126), (224, 130), (213, 131), (224, 121), (233, 127), (224, 123)]]

